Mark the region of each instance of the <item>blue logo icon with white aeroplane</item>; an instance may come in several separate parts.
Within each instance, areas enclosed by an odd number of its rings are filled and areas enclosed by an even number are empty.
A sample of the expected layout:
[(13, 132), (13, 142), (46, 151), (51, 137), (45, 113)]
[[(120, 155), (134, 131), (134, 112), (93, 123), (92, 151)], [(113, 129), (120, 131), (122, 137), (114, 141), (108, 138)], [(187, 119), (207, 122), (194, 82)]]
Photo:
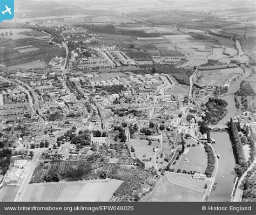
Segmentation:
[(0, 0), (0, 22), (14, 18), (14, 0)]

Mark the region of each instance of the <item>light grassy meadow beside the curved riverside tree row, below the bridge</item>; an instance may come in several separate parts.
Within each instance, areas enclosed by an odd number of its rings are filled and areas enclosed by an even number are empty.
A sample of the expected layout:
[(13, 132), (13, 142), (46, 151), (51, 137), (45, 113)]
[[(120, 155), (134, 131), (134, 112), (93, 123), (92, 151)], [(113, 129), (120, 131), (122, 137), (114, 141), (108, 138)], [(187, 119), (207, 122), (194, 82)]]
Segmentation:
[[(184, 162), (185, 159), (189, 162)], [(186, 147), (184, 153), (179, 157), (170, 169), (176, 172), (178, 169), (186, 171), (197, 171), (203, 173), (207, 166), (207, 155), (203, 147)]]

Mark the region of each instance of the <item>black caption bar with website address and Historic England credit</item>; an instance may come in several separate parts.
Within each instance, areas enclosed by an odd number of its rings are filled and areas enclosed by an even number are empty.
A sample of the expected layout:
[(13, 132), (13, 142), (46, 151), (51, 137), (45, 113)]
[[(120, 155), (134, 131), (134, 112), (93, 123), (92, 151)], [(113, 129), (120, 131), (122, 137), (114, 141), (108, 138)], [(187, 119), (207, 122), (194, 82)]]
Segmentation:
[(2, 202), (0, 215), (146, 214), (146, 215), (255, 215), (255, 203), (239, 202)]

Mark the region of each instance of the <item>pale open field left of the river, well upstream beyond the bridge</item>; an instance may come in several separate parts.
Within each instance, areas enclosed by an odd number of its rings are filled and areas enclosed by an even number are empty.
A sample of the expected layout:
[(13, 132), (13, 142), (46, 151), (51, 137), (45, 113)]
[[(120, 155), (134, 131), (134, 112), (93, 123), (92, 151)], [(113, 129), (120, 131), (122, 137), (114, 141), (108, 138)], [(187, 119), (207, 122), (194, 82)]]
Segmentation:
[(204, 84), (205, 86), (223, 86), (229, 79), (232, 79), (234, 75), (242, 74), (242, 69), (226, 68), (222, 70), (208, 70), (199, 71), (194, 77), (196, 83)]

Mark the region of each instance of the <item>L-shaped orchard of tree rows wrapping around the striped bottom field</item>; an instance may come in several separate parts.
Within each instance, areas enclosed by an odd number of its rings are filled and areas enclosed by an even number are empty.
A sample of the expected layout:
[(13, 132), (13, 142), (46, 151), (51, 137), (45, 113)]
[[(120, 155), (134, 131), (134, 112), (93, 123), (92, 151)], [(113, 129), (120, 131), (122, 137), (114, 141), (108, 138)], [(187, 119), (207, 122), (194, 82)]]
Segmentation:
[[(79, 173), (82, 172), (82, 175)], [(57, 175), (56, 175), (57, 174)], [(153, 189), (158, 176), (154, 169), (144, 170), (132, 165), (107, 163), (78, 163), (76, 161), (39, 162), (30, 183), (96, 180), (112, 178), (124, 181), (113, 194), (113, 201), (133, 199), (145, 195), (143, 188)], [(60, 189), (60, 188), (59, 188)], [(32, 192), (32, 191), (31, 191)]]

